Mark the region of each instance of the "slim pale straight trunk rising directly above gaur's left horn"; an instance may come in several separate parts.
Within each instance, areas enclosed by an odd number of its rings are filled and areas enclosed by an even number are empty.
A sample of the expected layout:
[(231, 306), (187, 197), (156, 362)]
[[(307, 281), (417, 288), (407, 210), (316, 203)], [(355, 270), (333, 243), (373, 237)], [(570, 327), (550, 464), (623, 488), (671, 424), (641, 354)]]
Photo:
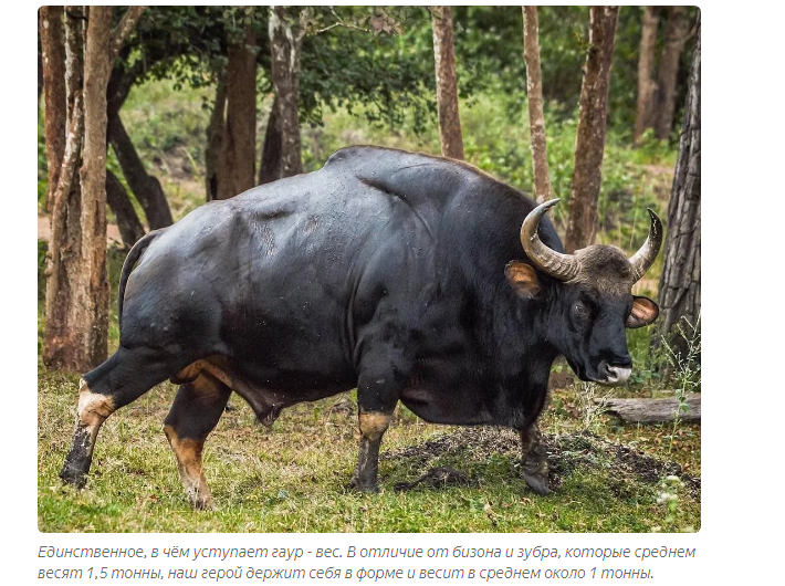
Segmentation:
[(543, 112), (543, 75), (540, 69), (540, 24), (537, 7), (523, 7), (523, 59), (526, 61), (528, 133), (532, 145), (532, 171), (537, 203), (551, 199), (548, 153)]

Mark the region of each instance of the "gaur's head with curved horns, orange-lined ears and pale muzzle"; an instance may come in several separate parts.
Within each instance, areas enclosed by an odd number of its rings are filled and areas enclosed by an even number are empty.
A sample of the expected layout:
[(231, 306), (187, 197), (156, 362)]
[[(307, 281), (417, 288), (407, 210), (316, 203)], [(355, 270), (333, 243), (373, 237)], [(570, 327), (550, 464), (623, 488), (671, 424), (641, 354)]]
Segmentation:
[(554, 278), (556, 285), (548, 286), (546, 294), (537, 272), (519, 261), (507, 264), (506, 278), (520, 296), (546, 302), (545, 335), (582, 380), (622, 385), (632, 366), (625, 327), (648, 325), (659, 314), (653, 301), (632, 295), (632, 285), (657, 258), (662, 223), (648, 210), (649, 237), (630, 259), (620, 249), (604, 244), (563, 254), (537, 236), (540, 220), (557, 202), (537, 206), (521, 227), (521, 243), (530, 261)]

